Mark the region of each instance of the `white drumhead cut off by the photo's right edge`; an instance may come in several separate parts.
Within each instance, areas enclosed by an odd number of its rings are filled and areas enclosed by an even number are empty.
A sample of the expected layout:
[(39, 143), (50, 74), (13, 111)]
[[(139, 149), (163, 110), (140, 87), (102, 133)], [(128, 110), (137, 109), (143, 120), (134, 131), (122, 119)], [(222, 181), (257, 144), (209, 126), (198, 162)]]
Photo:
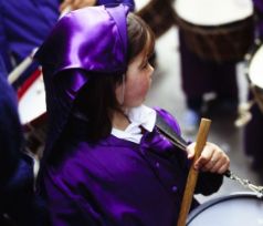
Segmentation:
[(249, 78), (252, 84), (263, 89), (263, 45), (261, 45), (251, 60)]

